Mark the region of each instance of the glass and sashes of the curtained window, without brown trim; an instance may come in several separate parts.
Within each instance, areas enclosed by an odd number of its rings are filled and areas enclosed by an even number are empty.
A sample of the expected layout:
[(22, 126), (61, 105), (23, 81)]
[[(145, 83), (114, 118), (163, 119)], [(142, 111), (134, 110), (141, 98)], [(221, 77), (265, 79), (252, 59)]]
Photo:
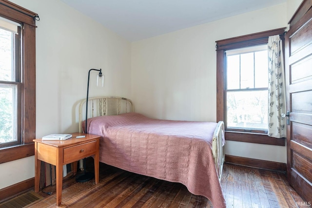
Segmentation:
[(267, 45), (226, 51), (226, 126), (231, 131), (268, 130)]

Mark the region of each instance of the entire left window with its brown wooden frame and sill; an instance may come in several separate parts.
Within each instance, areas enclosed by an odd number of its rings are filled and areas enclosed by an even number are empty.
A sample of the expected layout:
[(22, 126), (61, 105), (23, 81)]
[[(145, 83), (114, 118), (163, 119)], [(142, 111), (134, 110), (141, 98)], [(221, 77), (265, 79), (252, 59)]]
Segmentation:
[(36, 18), (36, 13), (1, 0), (0, 163), (34, 155)]

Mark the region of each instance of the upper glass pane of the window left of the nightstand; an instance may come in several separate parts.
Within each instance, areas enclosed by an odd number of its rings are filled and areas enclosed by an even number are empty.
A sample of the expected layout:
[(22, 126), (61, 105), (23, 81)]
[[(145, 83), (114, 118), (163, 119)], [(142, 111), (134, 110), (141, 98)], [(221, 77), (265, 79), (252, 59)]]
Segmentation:
[(14, 81), (13, 33), (0, 28), (0, 80)]

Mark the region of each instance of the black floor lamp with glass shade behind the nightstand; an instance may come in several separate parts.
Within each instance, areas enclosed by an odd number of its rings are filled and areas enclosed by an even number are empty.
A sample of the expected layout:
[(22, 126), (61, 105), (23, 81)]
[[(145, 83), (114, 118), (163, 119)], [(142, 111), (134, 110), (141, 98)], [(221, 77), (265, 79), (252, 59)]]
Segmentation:
[[(88, 133), (87, 129), (87, 121), (88, 121), (88, 99), (89, 99), (89, 81), (90, 81), (90, 72), (91, 71), (98, 71), (97, 77), (97, 86), (104, 87), (104, 75), (102, 75), (102, 69), (90, 69), (88, 73), (88, 86), (87, 86), (87, 99), (86, 99), (86, 123), (85, 123), (85, 133)], [(77, 175), (76, 181), (77, 182), (87, 182), (94, 178), (93, 172), (86, 171), (86, 158), (83, 159), (83, 174)]]

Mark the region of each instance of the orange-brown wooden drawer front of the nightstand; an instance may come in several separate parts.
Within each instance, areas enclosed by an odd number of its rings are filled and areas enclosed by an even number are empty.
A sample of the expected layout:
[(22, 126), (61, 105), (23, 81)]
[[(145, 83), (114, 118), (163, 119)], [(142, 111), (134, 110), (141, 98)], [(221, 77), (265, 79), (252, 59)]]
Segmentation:
[[(63, 150), (63, 163), (75, 161), (97, 152), (97, 141), (65, 148)], [(78, 158), (78, 159), (77, 159)]]

